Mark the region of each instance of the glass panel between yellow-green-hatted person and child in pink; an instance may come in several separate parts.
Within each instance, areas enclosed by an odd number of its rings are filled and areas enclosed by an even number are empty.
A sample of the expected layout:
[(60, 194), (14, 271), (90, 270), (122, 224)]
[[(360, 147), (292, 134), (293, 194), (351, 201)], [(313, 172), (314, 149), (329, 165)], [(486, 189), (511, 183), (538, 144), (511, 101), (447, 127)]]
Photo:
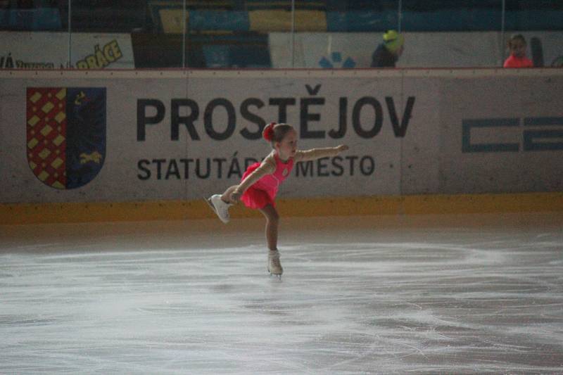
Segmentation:
[(502, 0), (403, 0), (398, 66), (502, 65)]

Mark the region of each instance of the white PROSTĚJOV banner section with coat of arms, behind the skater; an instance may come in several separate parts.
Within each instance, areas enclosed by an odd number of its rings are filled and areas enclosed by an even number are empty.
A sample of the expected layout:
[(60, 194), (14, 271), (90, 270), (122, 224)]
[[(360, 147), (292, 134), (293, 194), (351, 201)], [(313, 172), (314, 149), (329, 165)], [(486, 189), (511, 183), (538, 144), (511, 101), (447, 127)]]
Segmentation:
[(437, 93), (406, 92), (399, 77), (160, 73), (2, 80), (1, 156), (11, 176), (2, 201), (198, 199), (239, 183), (270, 153), (261, 131), (271, 121), (294, 125), (301, 149), (350, 146), (296, 165), (285, 196), (396, 195), (401, 144), (416, 127), (436, 127), (417, 106)]

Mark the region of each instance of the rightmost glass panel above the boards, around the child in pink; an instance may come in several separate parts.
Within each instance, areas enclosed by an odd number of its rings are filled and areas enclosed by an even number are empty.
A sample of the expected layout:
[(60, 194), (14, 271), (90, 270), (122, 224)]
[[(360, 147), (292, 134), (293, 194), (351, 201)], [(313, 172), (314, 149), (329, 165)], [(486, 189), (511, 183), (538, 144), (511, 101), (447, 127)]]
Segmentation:
[(563, 1), (506, 0), (505, 56), (512, 38), (524, 38), (526, 58), (533, 66), (563, 66)]

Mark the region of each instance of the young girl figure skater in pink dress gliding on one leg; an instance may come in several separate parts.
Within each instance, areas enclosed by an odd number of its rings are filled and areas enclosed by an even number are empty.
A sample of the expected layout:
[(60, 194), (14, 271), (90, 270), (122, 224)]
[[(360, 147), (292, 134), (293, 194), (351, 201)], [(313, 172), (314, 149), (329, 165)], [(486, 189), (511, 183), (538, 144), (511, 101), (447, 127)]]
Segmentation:
[(266, 241), (270, 249), (267, 269), (270, 274), (281, 277), (284, 269), (279, 262), (277, 249), (277, 228), (279, 215), (275, 198), (279, 184), (289, 176), (295, 163), (336, 156), (348, 150), (340, 145), (327, 148), (312, 148), (298, 151), (297, 132), (288, 124), (271, 122), (263, 132), (263, 138), (272, 144), (272, 152), (262, 162), (250, 165), (242, 176), (241, 183), (229, 187), (224, 193), (215, 194), (207, 199), (217, 216), (224, 223), (229, 222), (229, 207), (242, 201), (248, 208), (260, 210), (266, 218)]

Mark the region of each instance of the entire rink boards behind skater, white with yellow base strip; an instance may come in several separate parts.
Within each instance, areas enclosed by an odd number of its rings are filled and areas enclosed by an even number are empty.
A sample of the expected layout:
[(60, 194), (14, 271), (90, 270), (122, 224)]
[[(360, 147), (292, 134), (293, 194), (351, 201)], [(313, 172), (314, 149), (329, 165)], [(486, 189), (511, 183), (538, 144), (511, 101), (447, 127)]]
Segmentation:
[(560, 202), (563, 191), (561, 70), (45, 70), (0, 77), (3, 212), (57, 212), (61, 203), (66, 211), (72, 203), (131, 207), (131, 217), (135, 207), (155, 205), (197, 217), (202, 196), (238, 183), (247, 165), (270, 152), (260, 139), (270, 121), (294, 125), (300, 148), (350, 146), (296, 165), (284, 182), (280, 197), (301, 202), (305, 213), (319, 200), (338, 202), (341, 212), (366, 205), (400, 212), (412, 197), (421, 207), (428, 200), (440, 207), (450, 196), (483, 201), (483, 194), (505, 193), (550, 193), (539, 205), (557, 208), (553, 199)]

